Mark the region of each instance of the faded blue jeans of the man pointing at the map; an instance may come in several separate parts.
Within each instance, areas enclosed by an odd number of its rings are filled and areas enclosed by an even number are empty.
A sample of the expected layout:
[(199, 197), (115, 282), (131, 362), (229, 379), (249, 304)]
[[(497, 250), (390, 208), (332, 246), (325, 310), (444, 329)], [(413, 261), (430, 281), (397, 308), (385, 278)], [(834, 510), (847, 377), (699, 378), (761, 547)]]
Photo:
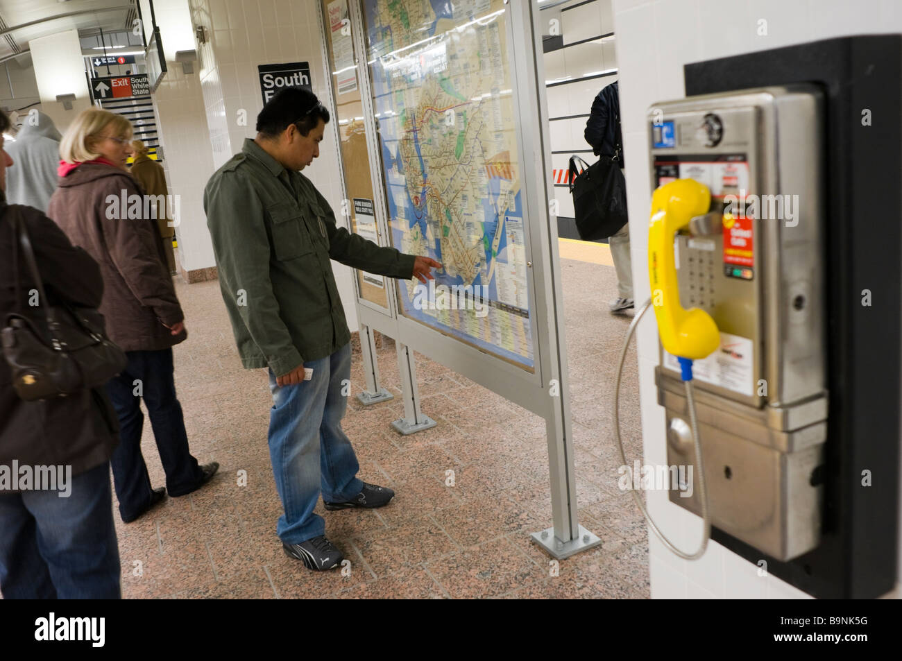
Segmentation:
[(325, 534), (326, 522), (313, 513), (320, 491), (323, 500), (351, 500), (364, 488), (357, 479), (360, 464), (341, 428), (347, 405), (342, 381), (351, 379), (351, 345), (304, 366), (310, 381), (278, 386), (270, 370), (270, 459), (285, 513), (276, 532), (286, 544), (299, 544)]

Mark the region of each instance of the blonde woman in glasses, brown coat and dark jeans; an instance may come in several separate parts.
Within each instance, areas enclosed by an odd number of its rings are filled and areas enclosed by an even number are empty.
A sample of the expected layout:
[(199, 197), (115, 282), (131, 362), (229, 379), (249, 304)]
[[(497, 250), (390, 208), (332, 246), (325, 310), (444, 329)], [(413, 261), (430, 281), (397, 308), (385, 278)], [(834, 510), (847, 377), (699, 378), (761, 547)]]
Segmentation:
[(156, 221), (143, 214), (144, 204), (135, 213), (137, 206), (129, 200), (142, 196), (125, 170), (131, 138), (132, 125), (122, 115), (99, 108), (79, 114), (60, 142), (60, 186), (48, 208), (69, 240), (100, 264), (104, 297), (99, 309), (110, 338), (128, 355), (124, 372), (106, 384), (121, 427), (122, 443), (111, 464), (126, 523), (165, 496), (162, 488), (152, 489), (141, 454), (142, 397), (170, 496), (195, 491), (219, 467), (215, 462), (199, 466), (189, 451), (172, 378), (172, 346), (187, 337), (185, 316)]

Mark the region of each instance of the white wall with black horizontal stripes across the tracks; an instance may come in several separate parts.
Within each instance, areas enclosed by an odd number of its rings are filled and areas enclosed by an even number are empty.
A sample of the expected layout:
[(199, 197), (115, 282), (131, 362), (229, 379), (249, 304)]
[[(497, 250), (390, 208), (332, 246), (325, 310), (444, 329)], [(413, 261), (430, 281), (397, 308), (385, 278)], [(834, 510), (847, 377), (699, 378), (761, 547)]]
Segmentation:
[[(613, 32), (611, 0), (592, 0), (580, 4), (576, 0), (566, 5), (555, 5), (539, 13), (542, 33), (551, 35), (558, 32), (563, 48), (546, 50), (545, 80), (547, 87), (549, 138), (552, 153), (551, 162), (555, 178), (555, 197), (558, 203), (557, 216), (572, 218), (573, 198), (566, 187), (566, 169), (571, 154), (593, 163), (596, 157), (585, 142), (585, 123), (592, 102), (598, 92), (617, 79), (616, 75), (603, 78), (578, 80), (617, 69), (615, 36), (584, 43), (576, 43)], [(574, 81), (574, 82), (567, 82)], [(570, 117), (570, 119), (555, 119)], [(565, 170), (562, 174), (561, 170)], [(566, 230), (562, 230), (566, 231)], [(562, 236), (566, 234), (561, 234)], [(575, 238), (575, 235), (574, 237)]]

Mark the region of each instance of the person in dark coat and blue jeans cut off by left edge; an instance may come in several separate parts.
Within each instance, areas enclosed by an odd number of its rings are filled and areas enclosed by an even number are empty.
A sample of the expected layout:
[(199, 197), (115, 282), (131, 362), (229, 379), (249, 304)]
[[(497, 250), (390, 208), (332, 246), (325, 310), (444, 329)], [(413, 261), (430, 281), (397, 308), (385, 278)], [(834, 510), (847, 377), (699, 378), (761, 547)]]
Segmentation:
[[(0, 133), (8, 130), (0, 112)], [(97, 308), (104, 292), (97, 262), (38, 209), (6, 205), (6, 169), (13, 160), (3, 141), (0, 135), (0, 318), (31, 310), (37, 320), (44, 305)], [(48, 300), (32, 300), (37, 283), (12, 214), (31, 240)], [(119, 442), (115, 411), (103, 389), (25, 401), (12, 378), (0, 360), (0, 592), (4, 599), (118, 599), (109, 474)], [(15, 479), (26, 467), (32, 479), (50, 472), (56, 483)]]

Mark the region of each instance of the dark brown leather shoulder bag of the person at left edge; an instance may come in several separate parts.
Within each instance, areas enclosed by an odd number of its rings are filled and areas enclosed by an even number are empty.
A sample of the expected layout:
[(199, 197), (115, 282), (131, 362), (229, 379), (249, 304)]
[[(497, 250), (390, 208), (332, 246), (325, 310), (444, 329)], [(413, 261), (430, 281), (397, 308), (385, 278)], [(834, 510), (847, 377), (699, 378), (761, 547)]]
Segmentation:
[[(50, 305), (21, 214), (11, 206), (6, 207), (5, 216), (12, 222), (16, 238), (13, 263), (17, 309), (5, 319), (3, 353), (16, 394), (33, 401), (102, 386), (125, 369), (125, 353), (106, 337), (104, 317), (96, 309)], [(37, 308), (43, 312), (42, 318), (36, 312), (28, 315), (24, 311), (19, 252), (38, 290)]]

